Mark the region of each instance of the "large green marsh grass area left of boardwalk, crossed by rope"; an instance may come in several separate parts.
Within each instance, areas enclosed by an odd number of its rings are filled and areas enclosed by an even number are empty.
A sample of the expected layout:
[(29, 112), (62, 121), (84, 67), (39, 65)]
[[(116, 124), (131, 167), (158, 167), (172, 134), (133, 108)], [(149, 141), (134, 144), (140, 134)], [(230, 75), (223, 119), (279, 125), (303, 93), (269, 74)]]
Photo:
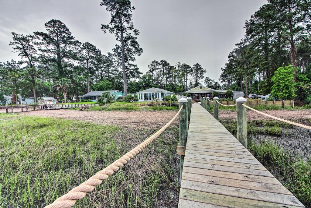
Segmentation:
[[(157, 130), (17, 114), (0, 114), (0, 128), (0, 207), (28, 208), (53, 202)], [(75, 207), (176, 206), (178, 138), (177, 127), (167, 129)]]

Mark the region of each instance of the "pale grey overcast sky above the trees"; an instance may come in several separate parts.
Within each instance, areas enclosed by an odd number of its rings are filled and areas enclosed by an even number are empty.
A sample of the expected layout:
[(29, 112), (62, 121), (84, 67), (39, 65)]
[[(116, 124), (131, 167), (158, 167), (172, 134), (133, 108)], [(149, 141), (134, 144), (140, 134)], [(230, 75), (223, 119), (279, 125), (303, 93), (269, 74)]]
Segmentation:
[[(244, 36), (244, 23), (266, 0), (132, 0), (138, 43), (143, 49), (136, 64), (142, 72), (152, 60), (194, 65), (217, 80), (234, 44)], [(102, 53), (116, 44), (101, 24), (110, 20), (100, 0), (0, 0), (0, 61), (18, 59), (8, 46), (11, 32), (45, 31), (51, 19), (64, 22), (81, 42), (90, 42)]]

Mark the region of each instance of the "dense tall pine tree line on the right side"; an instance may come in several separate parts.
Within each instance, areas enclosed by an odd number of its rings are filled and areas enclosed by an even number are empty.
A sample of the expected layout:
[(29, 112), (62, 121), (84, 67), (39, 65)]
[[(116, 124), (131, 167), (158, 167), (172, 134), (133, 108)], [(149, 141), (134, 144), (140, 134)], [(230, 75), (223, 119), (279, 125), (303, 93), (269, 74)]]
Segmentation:
[(286, 77), (293, 81), (283, 83), (279, 90), (290, 89), (290, 92), (278, 98), (306, 100), (311, 86), (310, 11), (308, 0), (268, 0), (260, 7), (245, 22), (244, 38), (221, 68), (219, 80), (225, 83), (224, 87), (243, 90), (246, 96), (271, 92), (277, 96), (277, 90), (273, 89), (277, 88), (278, 80)]

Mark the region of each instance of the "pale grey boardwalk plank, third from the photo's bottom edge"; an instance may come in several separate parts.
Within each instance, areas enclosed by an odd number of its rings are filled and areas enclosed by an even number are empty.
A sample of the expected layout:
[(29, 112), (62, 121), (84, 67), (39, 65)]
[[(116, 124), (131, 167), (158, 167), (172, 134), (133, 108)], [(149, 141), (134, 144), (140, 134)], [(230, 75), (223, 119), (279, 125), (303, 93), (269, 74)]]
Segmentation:
[(208, 192), (225, 196), (234, 196), (244, 199), (252, 199), (258, 201), (303, 207), (301, 202), (298, 201), (298, 199), (296, 199), (296, 197), (292, 195), (278, 194), (272, 192), (267, 193), (265, 191), (254, 191), (251, 189), (221, 186), (217, 184), (207, 184), (188, 180), (183, 181), (183, 183), (181, 184), (181, 188), (187, 188), (190, 190)]

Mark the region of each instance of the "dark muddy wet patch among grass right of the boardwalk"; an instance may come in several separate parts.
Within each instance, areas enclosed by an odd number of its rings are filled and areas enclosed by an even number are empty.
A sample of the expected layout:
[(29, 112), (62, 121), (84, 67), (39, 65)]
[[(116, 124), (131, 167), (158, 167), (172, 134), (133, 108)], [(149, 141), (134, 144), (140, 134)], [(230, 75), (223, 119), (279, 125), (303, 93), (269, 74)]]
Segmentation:
[(285, 152), (293, 156), (308, 160), (311, 156), (311, 131), (304, 128), (283, 128), (281, 136), (269, 136), (263, 134), (252, 134), (255, 143), (260, 141), (272, 141), (272, 143), (284, 148)]

